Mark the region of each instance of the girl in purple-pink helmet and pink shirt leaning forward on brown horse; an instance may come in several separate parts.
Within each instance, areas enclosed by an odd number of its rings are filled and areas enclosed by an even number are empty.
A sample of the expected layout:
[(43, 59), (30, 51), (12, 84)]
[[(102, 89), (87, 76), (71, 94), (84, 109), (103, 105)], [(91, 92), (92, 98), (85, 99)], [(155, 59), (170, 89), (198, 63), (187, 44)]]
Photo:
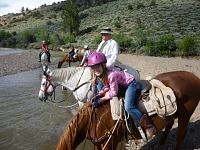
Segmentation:
[(92, 107), (99, 107), (102, 102), (117, 96), (118, 85), (125, 89), (125, 110), (136, 120), (145, 130), (147, 138), (154, 134), (154, 126), (150, 124), (146, 115), (143, 115), (135, 104), (136, 80), (133, 75), (115, 67), (106, 67), (106, 56), (101, 52), (93, 52), (88, 58), (88, 66), (94, 74), (94, 83), (98, 79), (104, 84), (99, 93), (91, 99)]

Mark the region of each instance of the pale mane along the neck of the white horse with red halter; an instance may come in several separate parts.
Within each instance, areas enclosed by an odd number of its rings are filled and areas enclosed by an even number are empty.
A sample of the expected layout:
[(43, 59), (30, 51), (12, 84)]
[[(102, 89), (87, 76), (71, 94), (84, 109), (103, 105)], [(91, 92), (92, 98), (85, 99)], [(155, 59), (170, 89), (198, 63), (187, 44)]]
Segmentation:
[(76, 74), (77, 72), (83, 70), (83, 67), (68, 67), (55, 69), (50, 73), (50, 76), (53, 76), (55, 80), (64, 81), (65, 79), (70, 79), (71, 76)]

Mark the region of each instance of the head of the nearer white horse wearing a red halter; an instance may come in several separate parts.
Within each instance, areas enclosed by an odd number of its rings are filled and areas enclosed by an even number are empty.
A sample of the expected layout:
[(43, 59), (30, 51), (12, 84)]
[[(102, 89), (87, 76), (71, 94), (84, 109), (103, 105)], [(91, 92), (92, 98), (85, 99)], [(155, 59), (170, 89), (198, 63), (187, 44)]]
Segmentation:
[(50, 75), (43, 75), (38, 98), (41, 101), (46, 101), (49, 96), (52, 96), (55, 91), (55, 83), (51, 81)]

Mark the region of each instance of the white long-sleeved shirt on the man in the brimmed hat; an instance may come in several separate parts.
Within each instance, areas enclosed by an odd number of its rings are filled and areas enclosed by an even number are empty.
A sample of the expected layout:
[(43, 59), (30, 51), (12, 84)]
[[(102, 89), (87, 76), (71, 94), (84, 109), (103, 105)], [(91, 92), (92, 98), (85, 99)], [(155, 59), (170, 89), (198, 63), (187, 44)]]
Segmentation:
[[(98, 45), (97, 52), (99, 51), (99, 49), (101, 48), (101, 45), (104, 42), (105, 41), (102, 40), (101, 43)], [(117, 44), (117, 42), (113, 39), (108, 40), (107, 44), (103, 48), (102, 53), (104, 53), (106, 58), (107, 58), (106, 66), (107, 67), (114, 66), (115, 62), (118, 58), (118, 44)]]

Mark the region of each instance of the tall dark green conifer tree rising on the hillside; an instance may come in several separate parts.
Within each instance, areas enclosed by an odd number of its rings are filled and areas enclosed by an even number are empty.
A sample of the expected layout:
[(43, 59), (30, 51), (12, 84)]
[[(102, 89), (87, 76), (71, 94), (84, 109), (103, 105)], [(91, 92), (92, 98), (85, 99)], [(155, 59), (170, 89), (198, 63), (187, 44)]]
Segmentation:
[(80, 20), (74, 0), (67, 0), (67, 3), (63, 6), (61, 18), (63, 19), (64, 31), (69, 31), (70, 35), (78, 35)]

